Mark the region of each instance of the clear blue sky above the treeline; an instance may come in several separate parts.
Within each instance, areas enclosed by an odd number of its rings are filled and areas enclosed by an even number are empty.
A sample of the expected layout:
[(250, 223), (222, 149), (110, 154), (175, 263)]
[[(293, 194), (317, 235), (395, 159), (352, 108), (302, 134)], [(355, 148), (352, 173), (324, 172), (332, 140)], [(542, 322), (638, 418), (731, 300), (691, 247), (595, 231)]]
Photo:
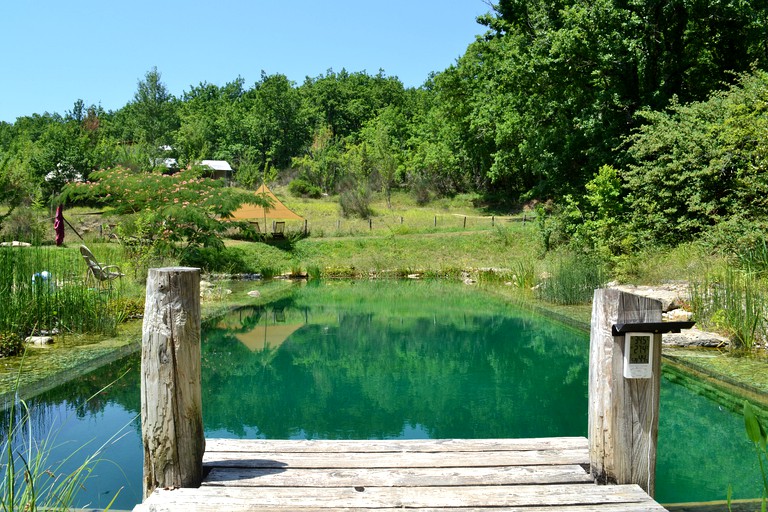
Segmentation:
[(297, 84), (328, 69), (383, 69), (407, 87), (456, 62), (484, 0), (7, 0), (0, 3), (0, 121), (106, 110), (157, 66), (175, 96), (261, 71)]

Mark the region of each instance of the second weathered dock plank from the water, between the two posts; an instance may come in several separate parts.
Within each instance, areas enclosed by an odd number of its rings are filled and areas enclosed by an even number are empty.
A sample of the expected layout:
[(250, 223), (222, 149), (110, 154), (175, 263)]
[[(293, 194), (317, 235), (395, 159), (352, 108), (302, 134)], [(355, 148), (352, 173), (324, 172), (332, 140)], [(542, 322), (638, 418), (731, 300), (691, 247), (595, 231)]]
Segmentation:
[(577, 450), (527, 450), (477, 453), (274, 453), (211, 452), (205, 454), (205, 466), (252, 468), (434, 468), (538, 466), (586, 464), (588, 452)]

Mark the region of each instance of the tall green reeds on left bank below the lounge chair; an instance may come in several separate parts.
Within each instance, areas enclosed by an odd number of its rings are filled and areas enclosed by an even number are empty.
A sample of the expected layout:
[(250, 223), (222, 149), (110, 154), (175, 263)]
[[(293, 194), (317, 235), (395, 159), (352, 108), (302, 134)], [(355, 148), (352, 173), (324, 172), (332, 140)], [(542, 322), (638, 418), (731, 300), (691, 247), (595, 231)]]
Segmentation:
[(0, 248), (0, 332), (113, 334), (109, 302), (119, 285), (86, 282), (79, 253), (52, 247)]

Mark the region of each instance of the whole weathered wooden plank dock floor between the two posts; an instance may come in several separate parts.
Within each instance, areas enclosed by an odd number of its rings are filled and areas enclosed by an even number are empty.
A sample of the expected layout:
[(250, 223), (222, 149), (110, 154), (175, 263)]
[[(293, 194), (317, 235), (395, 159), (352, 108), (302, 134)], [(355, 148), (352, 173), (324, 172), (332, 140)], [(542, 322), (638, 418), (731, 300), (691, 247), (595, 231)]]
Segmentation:
[(582, 437), (206, 440), (198, 489), (157, 490), (134, 512), (663, 511), (637, 485), (596, 485)]

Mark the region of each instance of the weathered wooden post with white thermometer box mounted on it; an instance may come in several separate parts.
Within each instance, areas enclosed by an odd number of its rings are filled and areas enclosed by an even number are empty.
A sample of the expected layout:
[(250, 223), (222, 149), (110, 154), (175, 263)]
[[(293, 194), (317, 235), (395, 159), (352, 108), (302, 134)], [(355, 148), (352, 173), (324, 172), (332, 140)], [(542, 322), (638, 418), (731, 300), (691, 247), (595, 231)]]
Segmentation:
[(661, 334), (653, 334), (653, 376), (624, 377), (624, 336), (615, 324), (661, 322), (661, 303), (613, 289), (595, 290), (589, 350), (589, 460), (598, 483), (656, 486)]

